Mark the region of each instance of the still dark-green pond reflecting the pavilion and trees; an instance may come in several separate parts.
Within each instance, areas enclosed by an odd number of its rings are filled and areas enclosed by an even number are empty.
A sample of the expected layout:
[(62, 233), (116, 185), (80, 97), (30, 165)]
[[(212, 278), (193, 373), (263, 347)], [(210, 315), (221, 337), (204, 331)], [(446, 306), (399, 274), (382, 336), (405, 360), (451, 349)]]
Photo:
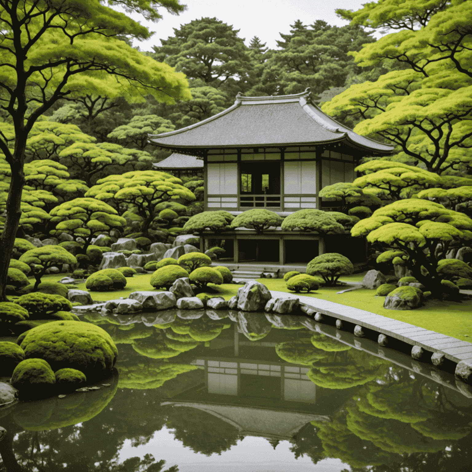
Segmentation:
[(86, 315), (117, 343), (114, 374), (0, 410), (0, 471), (470, 470), (472, 395), (452, 375), (270, 316)]

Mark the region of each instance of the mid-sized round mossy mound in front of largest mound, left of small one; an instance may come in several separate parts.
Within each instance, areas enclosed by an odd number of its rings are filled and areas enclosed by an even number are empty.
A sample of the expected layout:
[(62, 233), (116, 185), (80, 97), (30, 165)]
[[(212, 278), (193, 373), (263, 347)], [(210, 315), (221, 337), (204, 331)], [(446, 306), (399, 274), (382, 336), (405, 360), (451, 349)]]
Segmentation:
[(41, 358), (30, 357), (19, 362), (11, 375), (11, 385), (23, 397), (51, 395), (55, 383), (56, 377), (51, 366)]

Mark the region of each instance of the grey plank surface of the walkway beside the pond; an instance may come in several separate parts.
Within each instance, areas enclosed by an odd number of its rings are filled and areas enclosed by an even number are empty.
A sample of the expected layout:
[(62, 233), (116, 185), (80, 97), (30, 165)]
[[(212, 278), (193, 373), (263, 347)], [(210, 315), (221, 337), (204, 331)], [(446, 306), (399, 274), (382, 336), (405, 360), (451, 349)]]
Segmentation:
[[(293, 296), (293, 294), (287, 294), (287, 292), (272, 290), (270, 293), (274, 297)], [(467, 341), (430, 331), (429, 329), (419, 328), (404, 321), (366, 312), (358, 308), (321, 300), (320, 298), (300, 296), (298, 294), (296, 296), (299, 298), (300, 303), (312, 308), (315, 312), (372, 329), (412, 346), (420, 346), (432, 353), (444, 354), (447, 359), (456, 363), (465, 361), (472, 364), (472, 343)]]

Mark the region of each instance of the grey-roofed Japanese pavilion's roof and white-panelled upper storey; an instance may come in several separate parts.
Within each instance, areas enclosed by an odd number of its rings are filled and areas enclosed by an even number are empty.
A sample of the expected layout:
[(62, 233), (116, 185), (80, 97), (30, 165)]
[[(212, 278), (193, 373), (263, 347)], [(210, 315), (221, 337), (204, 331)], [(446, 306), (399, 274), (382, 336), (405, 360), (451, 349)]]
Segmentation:
[[(365, 156), (393, 147), (354, 133), (309, 100), (294, 95), (236, 96), (217, 115), (149, 142), (203, 161), (205, 209), (296, 211), (321, 208), (326, 185), (352, 182)], [(170, 159), (170, 158), (169, 158)]]

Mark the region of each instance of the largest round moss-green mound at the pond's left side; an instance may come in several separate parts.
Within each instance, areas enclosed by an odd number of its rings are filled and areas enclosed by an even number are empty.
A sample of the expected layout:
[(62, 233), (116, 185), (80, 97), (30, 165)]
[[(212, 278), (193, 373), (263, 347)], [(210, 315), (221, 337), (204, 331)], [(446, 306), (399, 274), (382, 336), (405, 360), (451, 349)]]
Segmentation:
[(26, 331), (20, 347), (26, 359), (44, 359), (54, 372), (76, 369), (89, 380), (107, 376), (118, 357), (110, 335), (83, 321), (51, 321), (37, 326)]

